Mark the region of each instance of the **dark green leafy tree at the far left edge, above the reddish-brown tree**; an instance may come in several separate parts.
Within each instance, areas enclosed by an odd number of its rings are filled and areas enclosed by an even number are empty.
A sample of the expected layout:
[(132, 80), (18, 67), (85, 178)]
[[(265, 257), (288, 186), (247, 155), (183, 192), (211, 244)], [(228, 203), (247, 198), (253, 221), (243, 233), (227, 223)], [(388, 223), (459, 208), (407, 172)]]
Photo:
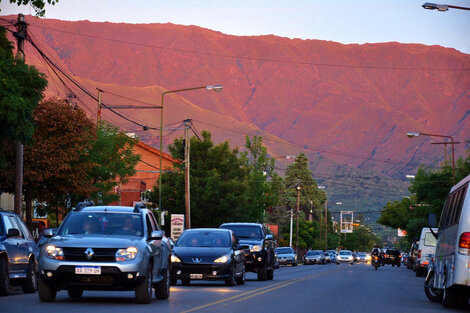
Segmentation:
[[(12, 44), (0, 27), (0, 146), (32, 143), (33, 111), (43, 97), (47, 80), (33, 66), (13, 58)], [(0, 149), (0, 168), (6, 166), (6, 149)]]

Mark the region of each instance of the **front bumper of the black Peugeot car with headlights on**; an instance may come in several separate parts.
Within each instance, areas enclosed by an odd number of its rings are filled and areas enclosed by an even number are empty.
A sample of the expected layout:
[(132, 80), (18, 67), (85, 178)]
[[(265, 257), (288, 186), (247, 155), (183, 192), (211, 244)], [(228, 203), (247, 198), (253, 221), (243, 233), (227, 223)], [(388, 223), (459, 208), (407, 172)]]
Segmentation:
[(171, 278), (181, 280), (225, 280), (234, 275), (230, 263), (172, 263)]

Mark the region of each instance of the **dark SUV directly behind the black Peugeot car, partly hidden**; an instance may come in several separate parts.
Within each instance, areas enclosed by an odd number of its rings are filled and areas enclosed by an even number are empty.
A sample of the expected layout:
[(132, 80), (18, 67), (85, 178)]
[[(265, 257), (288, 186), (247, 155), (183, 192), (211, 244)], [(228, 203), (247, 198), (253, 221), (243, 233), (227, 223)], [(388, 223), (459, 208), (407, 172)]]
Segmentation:
[(274, 278), (275, 244), (268, 230), (257, 223), (225, 223), (220, 228), (231, 229), (245, 251), (245, 270), (258, 274), (258, 280)]

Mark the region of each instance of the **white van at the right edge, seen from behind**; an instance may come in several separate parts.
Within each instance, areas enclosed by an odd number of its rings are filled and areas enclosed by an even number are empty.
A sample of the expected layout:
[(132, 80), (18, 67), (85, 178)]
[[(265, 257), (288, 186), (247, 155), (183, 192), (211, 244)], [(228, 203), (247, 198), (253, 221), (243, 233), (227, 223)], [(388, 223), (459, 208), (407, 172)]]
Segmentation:
[(452, 187), (442, 210), (432, 266), (424, 289), (445, 307), (465, 307), (470, 296), (470, 175)]

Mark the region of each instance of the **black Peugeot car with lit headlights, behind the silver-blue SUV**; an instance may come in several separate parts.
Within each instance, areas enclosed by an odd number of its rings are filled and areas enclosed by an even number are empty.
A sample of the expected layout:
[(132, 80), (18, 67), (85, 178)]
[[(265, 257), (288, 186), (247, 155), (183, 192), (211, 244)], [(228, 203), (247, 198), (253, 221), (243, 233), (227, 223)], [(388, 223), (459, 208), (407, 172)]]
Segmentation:
[(171, 256), (171, 284), (180, 279), (224, 280), (227, 286), (245, 283), (245, 255), (235, 234), (228, 229), (185, 230), (176, 241)]

